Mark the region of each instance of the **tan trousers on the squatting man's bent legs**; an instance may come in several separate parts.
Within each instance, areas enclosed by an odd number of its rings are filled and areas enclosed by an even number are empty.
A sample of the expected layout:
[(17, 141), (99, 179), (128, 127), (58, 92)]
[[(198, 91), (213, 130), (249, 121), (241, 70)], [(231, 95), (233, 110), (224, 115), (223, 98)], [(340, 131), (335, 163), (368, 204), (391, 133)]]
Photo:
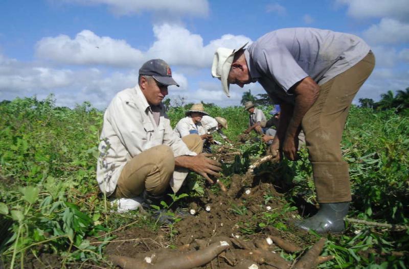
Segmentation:
[[(200, 154), (203, 142), (197, 134), (182, 138), (189, 150)], [(163, 194), (175, 169), (173, 151), (168, 145), (157, 145), (129, 160), (113, 193), (116, 198), (132, 198), (144, 189), (154, 195)]]

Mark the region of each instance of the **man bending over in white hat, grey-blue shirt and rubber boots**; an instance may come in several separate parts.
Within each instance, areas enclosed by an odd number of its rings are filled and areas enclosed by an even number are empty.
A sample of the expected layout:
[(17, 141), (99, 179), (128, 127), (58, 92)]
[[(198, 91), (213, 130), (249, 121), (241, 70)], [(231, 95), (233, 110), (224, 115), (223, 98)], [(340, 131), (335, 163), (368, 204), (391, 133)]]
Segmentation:
[(212, 75), (229, 85), (259, 82), (275, 104), (280, 123), (269, 153), (294, 160), (304, 130), (319, 212), (297, 226), (319, 233), (345, 229), (351, 201), (348, 163), (340, 141), (352, 100), (371, 74), (375, 58), (357, 36), (313, 28), (287, 28), (265, 34), (238, 50), (218, 48)]

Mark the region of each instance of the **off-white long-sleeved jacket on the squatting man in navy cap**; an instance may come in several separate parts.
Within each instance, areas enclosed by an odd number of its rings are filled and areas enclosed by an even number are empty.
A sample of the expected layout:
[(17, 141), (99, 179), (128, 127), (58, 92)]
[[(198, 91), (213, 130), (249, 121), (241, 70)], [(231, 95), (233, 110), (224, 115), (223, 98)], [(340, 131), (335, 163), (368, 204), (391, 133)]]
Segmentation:
[[(172, 131), (170, 120), (160, 105), (160, 120), (155, 120), (139, 86), (120, 91), (113, 97), (104, 114), (99, 144), (97, 181), (102, 192), (111, 195), (126, 162), (156, 145), (169, 145), (174, 157), (196, 155)], [(176, 192), (187, 173), (174, 172), (170, 182)]]

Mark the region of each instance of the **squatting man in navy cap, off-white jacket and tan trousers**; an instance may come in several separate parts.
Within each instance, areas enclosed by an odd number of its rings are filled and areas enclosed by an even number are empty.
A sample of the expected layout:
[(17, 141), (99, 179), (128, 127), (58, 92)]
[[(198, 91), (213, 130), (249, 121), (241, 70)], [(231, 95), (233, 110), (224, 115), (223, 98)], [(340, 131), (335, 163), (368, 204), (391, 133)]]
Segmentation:
[(189, 170), (213, 182), (220, 163), (200, 154), (192, 134), (179, 138), (162, 103), (168, 86), (179, 86), (169, 65), (154, 59), (139, 69), (138, 85), (117, 93), (107, 107), (99, 144), (97, 181), (118, 211), (158, 205), (169, 187), (176, 193)]

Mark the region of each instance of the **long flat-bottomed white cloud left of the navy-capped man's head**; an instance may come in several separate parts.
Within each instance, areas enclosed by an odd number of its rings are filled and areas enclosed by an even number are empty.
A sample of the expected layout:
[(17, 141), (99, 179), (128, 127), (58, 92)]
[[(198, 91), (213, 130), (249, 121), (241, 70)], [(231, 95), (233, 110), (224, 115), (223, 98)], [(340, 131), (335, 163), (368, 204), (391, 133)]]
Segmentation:
[(36, 44), (36, 56), (64, 64), (139, 66), (143, 54), (125, 40), (99, 37), (83, 30), (71, 39), (66, 35), (44, 37)]

